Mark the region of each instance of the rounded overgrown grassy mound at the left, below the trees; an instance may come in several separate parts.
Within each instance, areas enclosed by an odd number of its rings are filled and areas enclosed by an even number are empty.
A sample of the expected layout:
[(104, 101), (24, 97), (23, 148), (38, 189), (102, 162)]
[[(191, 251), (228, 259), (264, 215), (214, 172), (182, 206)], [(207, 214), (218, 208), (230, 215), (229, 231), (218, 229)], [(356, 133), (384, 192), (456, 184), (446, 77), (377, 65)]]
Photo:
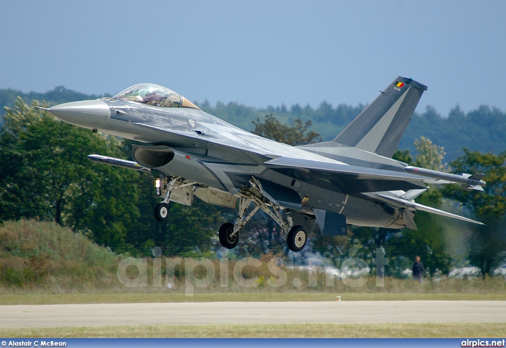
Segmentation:
[(121, 256), (55, 223), (8, 221), (0, 225), (0, 289), (110, 288)]

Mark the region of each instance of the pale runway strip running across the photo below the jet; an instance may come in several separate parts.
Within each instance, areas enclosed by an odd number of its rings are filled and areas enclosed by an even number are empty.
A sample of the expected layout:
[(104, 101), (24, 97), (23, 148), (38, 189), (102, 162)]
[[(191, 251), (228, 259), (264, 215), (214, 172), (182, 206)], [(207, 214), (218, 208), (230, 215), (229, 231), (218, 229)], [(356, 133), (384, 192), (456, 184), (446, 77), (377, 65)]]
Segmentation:
[(179, 302), (0, 306), (0, 327), (506, 323), (506, 301)]

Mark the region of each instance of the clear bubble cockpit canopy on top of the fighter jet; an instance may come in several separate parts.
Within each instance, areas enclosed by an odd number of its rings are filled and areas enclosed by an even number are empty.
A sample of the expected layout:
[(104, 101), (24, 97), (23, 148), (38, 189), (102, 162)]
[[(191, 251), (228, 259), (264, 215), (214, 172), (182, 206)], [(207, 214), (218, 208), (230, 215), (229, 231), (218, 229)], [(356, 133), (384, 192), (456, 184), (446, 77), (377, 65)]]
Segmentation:
[(119, 92), (113, 98), (166, 108), (198, 107), (183, 96), (163, 86), (153, 83), (139, 83)]

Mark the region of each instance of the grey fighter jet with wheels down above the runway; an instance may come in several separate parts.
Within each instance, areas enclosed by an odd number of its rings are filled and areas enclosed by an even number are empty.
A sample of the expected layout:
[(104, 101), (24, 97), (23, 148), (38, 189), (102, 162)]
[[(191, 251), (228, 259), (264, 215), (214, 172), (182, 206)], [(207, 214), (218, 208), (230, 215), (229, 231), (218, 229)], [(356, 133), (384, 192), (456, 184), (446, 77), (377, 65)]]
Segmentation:
[(49, 109), (76, 126), (135, 140), (128, 161), (91, 154), (92, 161), (151, 173), (155, 218), (167, 218), (169, 202), (204, 202), (238, 208), (235, 222), (219, 228), (220, 243), (234, 248), (240, 230), (265, 211), (288, 247), (301, 251), (315, 224), (325, 236), (346, 235), (347, 224), (415, 229), (417, 210), (481, 224), (414, 199), (428, 184), (460, 184), (483, 190), (483, 174), (454, 175), (392, 159), (427, 85), (397, 77), (333, 141), (289, 146), (259, 137), (203, 112), (178, 93), (136, 84), (112, 98)]

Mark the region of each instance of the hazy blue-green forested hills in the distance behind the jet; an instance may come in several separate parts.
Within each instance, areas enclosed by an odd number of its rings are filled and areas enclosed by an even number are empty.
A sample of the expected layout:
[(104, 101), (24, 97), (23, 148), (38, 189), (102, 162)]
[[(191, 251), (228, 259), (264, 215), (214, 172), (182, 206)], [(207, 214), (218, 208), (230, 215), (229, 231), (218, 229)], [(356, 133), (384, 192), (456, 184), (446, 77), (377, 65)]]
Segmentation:
[[(14, 106), (18, 96), (27, 104), (33, 100), (45, 100), (50, 105), (102, 97), (77, 93), (63, 86), (58, 86), (47, 93), (0, 90), (0, 117), (5, 114), (5, 106), (11, 108)], [(197, 104), (202, 110), (249, 131), (255, 128), (253, 121), (263, 119), (267, 114), (272, 114), (285, 124), (294, 119), (301, 119), (303, 122), (311, 120), (312, 129), (318, 132), (324, 141), (335, 138), (366, 107), (363, 104), (332, 106), (327, 102), (322, 102), (317, 108), (295, 104), (290, 107), (281, 105), (264, 109), (235, 102), (228, 104), (218, 102), (215, 106), (206, 101)], [(427, 107), (424, 111), (418, 110), (414, 113), (399, 147), (409, 149), (412, 153), (416, 152), (414, 140), (422, 136), (443, 146), (447, 161), (462, 156), (464, 147), (473, 151), (499, 154), (506, 149), (506, 112), (482, 105), (465, 113), (457, 105), (444, 116), (434, 108)]]

